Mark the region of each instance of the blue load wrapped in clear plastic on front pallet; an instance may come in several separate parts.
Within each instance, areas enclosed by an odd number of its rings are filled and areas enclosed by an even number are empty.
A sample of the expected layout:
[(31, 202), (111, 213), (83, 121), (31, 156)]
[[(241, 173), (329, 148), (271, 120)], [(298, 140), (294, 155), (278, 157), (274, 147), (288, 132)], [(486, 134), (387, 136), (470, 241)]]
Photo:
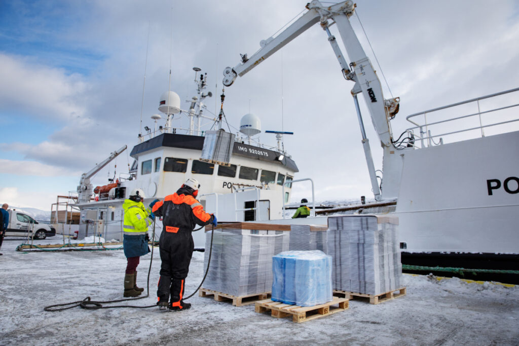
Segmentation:
[(332, 301), (332, 256), (319, 250), (272, 257), (272, 300), (301, 307)]

